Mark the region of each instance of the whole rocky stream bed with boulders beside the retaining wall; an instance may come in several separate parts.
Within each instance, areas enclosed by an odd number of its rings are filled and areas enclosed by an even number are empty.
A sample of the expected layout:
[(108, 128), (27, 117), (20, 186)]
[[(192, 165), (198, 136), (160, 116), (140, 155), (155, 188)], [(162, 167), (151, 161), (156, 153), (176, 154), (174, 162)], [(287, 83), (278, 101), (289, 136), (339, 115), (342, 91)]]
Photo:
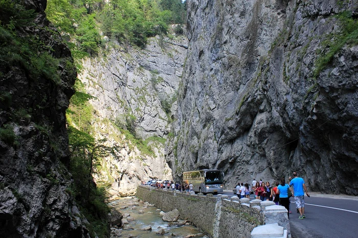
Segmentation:
[(120, 198), (109, 205), (123, 215), (121, 223), (111, 227), (111, 238), (208, 237), (189, 221), (178, 219), (179, 212), (176, 209), (164, 212), (136, 197)]

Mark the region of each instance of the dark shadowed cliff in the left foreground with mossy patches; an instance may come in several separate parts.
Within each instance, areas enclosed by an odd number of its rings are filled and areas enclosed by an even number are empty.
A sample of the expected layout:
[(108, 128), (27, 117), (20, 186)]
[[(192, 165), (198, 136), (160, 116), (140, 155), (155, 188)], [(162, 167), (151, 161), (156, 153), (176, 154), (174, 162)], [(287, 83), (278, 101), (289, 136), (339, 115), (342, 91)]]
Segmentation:
[[(36, 17), (14, 35), (37, 39), (32, 49), (38, 50), (37, 59), (42, 54), (56, 58), (60, 78), (30, 72), (29, 61), (12, 60), (0, 68), (0, 236), (88, 237), (88, 222), (66, 191), (71, 175), (65, 168), (70, 156), (65, 110), (76, 69), (70, 50), (45, 18), (46, 1), (21, 4)], [(9, 36), (2, 36), (5, 47)]]

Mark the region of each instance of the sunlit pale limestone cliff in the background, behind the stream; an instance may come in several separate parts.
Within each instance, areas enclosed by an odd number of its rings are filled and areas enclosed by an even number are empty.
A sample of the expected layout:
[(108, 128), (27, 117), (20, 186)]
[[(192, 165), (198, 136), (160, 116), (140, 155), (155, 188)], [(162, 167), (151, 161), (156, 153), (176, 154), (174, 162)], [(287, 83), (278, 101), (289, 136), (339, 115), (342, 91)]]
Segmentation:
[[(97, 180), (112, 184), (111, 193), (134, 195), (141, 180), (172, 179), (164, 141), (171, 111), (176, 110), (186, 49), (185, 36), (157, 36), (149, 38), (145, 49), (108, 42), (102, 57), (83, 61), (78, 78), (96, 97), (91, 100), (96, 110), (94, 133), (107, 138), (108, 146), (120, 148), (116, 156), (102, 161), (106, 169), (97, 171)], [(121, 129), (150, 141), (153, 153), (143, 152)]]

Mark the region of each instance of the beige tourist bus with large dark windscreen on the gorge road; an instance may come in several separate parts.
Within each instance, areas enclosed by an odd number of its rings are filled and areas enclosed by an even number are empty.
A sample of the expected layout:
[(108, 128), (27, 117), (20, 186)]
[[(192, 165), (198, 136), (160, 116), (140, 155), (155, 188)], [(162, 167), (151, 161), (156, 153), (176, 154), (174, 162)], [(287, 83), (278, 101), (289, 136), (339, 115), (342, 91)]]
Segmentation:
[(197, 170), (183, 173), (183, 182), (193, 184), (193, 191), (199, 193), (222, 192), (223, 173), (218, 170)]

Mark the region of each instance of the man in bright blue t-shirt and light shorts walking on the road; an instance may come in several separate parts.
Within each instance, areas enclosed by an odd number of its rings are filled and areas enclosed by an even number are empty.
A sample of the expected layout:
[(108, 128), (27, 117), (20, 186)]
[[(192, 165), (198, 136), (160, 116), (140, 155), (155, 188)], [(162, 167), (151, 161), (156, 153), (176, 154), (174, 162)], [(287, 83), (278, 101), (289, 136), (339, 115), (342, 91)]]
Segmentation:
[(300, 212), (299, 219), (304, 219), (304, 192), (306, 192), (307, 197), (309, 197), (306, 185), (304, 184), (303, 178), (297, 176), (297, 173), (293, 173), (294, 179), (290, 181), (289, 185), (294, 187), (294, 196), (296, 208)]

